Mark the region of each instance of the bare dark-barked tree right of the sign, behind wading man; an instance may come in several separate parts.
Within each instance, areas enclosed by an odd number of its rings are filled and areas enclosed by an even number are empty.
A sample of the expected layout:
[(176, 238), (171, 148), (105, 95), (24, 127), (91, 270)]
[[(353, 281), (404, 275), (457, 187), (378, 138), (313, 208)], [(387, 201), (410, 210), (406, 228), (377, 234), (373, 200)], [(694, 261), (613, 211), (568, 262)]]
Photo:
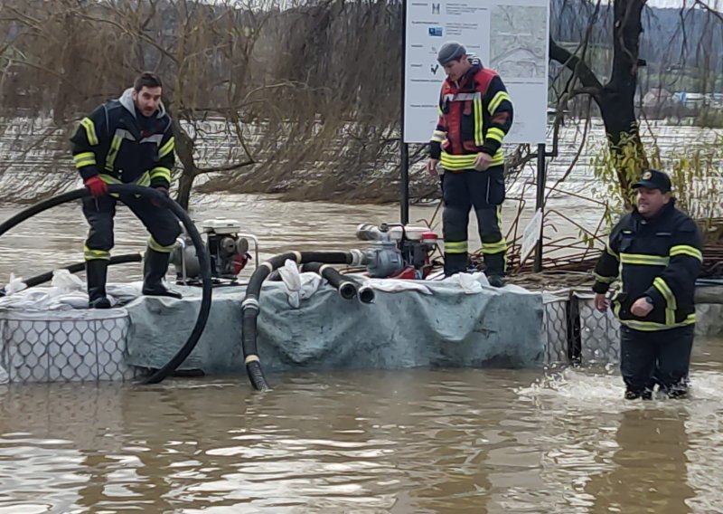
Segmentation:
[[(700, 0), (695, 1), (700, 5)], [(639, 75), (641, 69), (648, 61), (641, 58), (641, 36), (643, 34), (643, 14), (645, 14), (646, 0), (615, 0), (612, 6), (603, 4), (598, 0), (597, 4), (584, 2), (568, 2), (564, 0), (557, 11), (558, 37), (565, 37), (561, 24), (563, 20), (580, 20), (583, 24), (580, 27), (577, 37), (577, 48), (569, 49), (559, 44), (555, 37), (550, 37), (549, 57), (550, 60), (559, 62), (567, 69), (565, 85), (559, 91), (559, 104), (567, 106), (570, 100), (579, 95), (587, 95), (595, 101), (603, 119), (608, 138), (608, 145), (613, 165), (624, 195), (625, 203), (629, 202), (630, 186), (639, 175), (641, 169), (649, 167), (648, 154), (643, 147), (641, 140), (640, 125), (638, 120), (639, 111), (635, 104), (636, 93), (639, 89)], [(583, 8), (580, 9), (579, 7)], [(565, 16), (566, 9), (576, 8), (574, 17)], [(586, 9), (587, 8), (587, 9)], [(585, 13), (587, 10), (587, 20)], [(671, 40), (667, 47), (680, 48), (681, 58), (686, 59), (688, 43), (685, 39), (685, 16), (690, 11), (690, 6), (685, 5), (680, 10), (681, 24), (676, 32), (671, 34)], [(711, 11), (709, 19), (718, 18), (717, 12)], [(606, 24), (606, 22), (612, 22)], [(720, 33), (718, 25), (718, 34)], [(605, 31), (609, 31), (606, 37)], [(681, 38), (676, 38), (677, 31), (683, 34), (681, 43), (673, 44)], [(554, 31), (553, 31), (554, 32)], [(696, 32), (698, 35), (700, 33)], [(704, 33), (716, 33), (709, 30)], [(570, 34), (567, 34), (570, 37)], [(574, 37), (574, 36), (573, 36)], [(647, 49), (650, 51), (654, 45), (666, 46), (663, 42), (649, 42)], [(700, 40), (696, 49), (700, 54), (710, 56), (715, 52), (716, 46), (709, 39), (706, 45), (705, 39)], [(609, 62), (604, 62), (602, 73), (594, 70), (593, 61), (599, 55), (601, 48), (609, 45)], [(663, 52), (657, 53), (655, 57), (659, 60), (664, 58)], [(716, 71), (715, 64), (711, 68), (708, 60), (705, 66), (705, 73), (708, 75), (712, 69)], [(607, 80), (601, 77), (607, 75)], [(705, 85), (703, 86), (705, 89)]]

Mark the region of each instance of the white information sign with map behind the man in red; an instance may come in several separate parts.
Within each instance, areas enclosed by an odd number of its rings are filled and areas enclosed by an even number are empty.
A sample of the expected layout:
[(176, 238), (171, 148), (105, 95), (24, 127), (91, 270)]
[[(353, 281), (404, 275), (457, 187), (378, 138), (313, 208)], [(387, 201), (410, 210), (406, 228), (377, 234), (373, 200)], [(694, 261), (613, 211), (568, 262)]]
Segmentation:
[(549, 0), (408, 0), (404, 142), (427, 143), (446, 74), (437, 52), (465, 45), (502, 76), (514, 105), (507, 143), (543, 143), (547, 129)]

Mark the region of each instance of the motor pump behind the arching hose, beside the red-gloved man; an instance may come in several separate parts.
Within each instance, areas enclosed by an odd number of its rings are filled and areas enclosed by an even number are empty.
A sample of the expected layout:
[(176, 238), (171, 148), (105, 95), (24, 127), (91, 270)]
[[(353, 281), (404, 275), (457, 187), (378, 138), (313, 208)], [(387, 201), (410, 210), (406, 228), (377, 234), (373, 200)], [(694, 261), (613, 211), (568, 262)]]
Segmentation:
[[(205, 234), (205, 246), (211, 259), (211, 278), (217, 281), (236, 281), (239, 273), (251, 259), (249, 255), (249, 239), (256, 244), (258, 241), (250, 234), (240, 233), (240, 224), (236, 220), (216, 218), (201, 224)], [(174, 264), (177, 281), (194, 282), (201, 279), (201, 266), (191, 238), (183, 234), (178, 239), (170, 262)]]

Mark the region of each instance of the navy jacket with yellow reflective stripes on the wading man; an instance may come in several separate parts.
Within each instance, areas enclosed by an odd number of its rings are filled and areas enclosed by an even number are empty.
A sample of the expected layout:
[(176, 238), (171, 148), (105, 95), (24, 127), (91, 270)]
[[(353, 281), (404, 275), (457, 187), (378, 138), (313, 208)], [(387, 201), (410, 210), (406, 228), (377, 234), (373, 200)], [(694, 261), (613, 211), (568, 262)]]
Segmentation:
[[(693, 294), (703, 261), (698, 225), (675, 208), (644, 218), (634, 210), (615, 225), (595, 267), (593, 290), (605, 293), (619, 280), (612, 304), (615, 316), (636, 330), (664, 330), (695, 323)], [(630, 311), (635, 300), (649, 297), (653, 310), (644, 318)]]

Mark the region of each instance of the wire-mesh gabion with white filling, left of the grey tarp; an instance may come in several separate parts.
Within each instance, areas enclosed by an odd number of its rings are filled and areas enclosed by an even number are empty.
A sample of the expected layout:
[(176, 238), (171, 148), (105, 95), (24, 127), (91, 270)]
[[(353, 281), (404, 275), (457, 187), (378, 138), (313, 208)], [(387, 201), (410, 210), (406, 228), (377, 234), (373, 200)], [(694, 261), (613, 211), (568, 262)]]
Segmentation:
[(0, 382), (122, 381), (130, 322), (125, 311), (0, 311)]

